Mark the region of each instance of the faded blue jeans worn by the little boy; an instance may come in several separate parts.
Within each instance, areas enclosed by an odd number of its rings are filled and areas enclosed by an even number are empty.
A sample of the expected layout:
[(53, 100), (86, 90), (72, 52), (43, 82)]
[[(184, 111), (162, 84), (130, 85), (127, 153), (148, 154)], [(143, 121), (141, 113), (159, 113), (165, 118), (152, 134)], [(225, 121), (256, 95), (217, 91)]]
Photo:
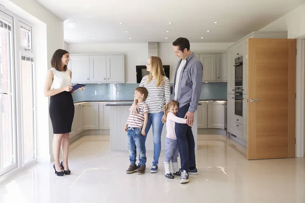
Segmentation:
[(142, 136), (141, 128), (128, 127), (127, 130), (130, 164), (136, 164), (138, 150), (140, 164), (146, 165), (146, 136)]

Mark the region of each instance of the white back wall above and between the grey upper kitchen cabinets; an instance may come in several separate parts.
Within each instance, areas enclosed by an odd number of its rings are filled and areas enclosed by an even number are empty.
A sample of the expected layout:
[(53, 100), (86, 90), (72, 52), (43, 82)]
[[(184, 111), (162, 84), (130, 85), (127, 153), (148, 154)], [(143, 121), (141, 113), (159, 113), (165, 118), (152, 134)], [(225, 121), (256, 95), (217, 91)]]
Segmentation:
[[(232, 43), (193, 43), (191, 51), (196, 53), (226, 52)], [(136, 83), (136, 65), (146, 65), (148, 44), (69, 44), (70, 54), (125, 54), (125, 81)], [(164, 65), (170, 65), (170, 82), (173, 83), (178, 57), (173, 52), (171, 43), (159, 43), (158, 56)]]

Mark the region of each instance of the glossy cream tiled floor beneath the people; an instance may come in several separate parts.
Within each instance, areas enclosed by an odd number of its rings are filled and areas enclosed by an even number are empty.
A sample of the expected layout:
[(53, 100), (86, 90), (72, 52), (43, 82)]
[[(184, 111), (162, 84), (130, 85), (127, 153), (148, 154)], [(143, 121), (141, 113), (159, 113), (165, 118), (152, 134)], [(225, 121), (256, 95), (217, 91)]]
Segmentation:
[(85, 142), (70, 153), (70, 176), (57, 177), (51, 163), (37, 163), (0, 185), (0, 202), (305, 202), (305, 160), (246, 159), (245, 149), (223, 136), (204, 136), (196, 152), (199, 174), (190, 183), (146, 173), (126, 174), (128, 152), (109, 142)]

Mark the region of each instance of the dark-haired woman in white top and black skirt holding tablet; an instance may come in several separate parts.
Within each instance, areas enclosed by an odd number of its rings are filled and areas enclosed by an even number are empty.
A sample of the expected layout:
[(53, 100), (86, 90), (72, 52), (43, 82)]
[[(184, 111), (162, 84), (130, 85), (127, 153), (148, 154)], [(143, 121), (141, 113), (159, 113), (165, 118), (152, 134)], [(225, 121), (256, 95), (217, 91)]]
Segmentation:
[[(50, 96), (49, 114), (53, 127), (53, 168), (57, 176), (70, 175), (68, 166), (69, 132), (71, 132), (74, 103), (72, 94), (72, 71), (68, 69), (70, 57), (66, 50), (58, 49), (51, 59), (52, 68), (48, 70), (44, 95)], [(60, 147), (62, 147), (63, 161), (59, 163)]]

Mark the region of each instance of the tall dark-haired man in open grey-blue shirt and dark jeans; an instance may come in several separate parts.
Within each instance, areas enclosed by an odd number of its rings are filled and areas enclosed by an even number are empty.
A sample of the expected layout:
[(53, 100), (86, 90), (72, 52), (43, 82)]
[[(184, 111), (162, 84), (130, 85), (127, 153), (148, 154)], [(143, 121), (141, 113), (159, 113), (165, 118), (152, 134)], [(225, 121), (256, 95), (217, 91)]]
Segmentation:
[(188, 39), (176, 39), (173, 42), (173, 50), (180, 59), (173, 87), (174, 99), (179, 103), (177, 116), (187, 118), (187, 124), (175, 124), (181, 160), (180, 183), (188, 183), (189, 174), (198, 174), (195, 161), (195, 140), (191, 126), (201, 93), (203, 65), (191, 52)]

